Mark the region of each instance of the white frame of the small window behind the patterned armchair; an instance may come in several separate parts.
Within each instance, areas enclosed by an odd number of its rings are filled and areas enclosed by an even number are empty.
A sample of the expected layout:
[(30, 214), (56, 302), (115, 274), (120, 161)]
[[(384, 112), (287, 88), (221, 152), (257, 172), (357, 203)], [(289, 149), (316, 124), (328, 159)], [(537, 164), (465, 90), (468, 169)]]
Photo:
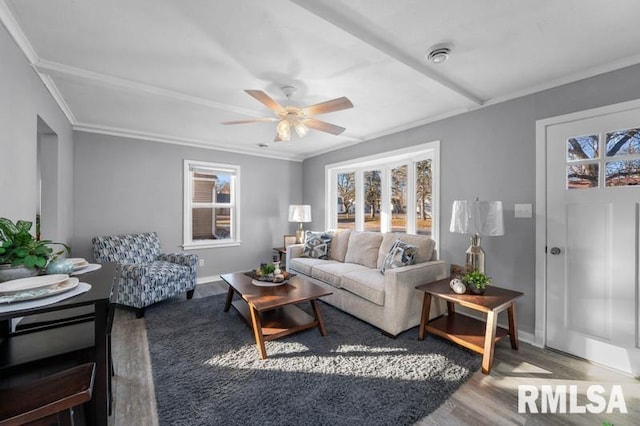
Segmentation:
[[(193, 203), (193, 179), (191, 178), (191, 168), (210, 169), (214, 172), (232, 174), (231, 194), (229, 204), (216, 205), (210, 203), (212, 207), (230, 208), (231, 210), (231, 238), (220, 240), (196, 240), (192, 239), (191, 213)], [(207, 249), (216, 247), (232, 247), (242, 243), (240, 239), (240, 166), (234, 164), (210, 163), (206, 161), (184, 160), (183, 184), (184, 184), (184, 212), (183, 212), (183, 243), (185, 250)]]

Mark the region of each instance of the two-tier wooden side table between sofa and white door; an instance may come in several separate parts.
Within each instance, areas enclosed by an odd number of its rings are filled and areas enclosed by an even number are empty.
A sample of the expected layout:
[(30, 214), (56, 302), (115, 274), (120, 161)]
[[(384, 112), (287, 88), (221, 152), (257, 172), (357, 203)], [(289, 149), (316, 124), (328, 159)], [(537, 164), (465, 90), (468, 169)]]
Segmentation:
[[(496, 342), (509, 335), (511, 348), (518, 349), (515, 301), (524, 293), (489, 286), (481, 296), (469, 293), (456, 294), (449, 287), (450, 281), (451, 278), (445, 278), (416, 287), (424, 292), (418, 340), (424, 340), (429, 332), (471, 349), (482, 355), (482, 372), (489, 374)], [(447, 302), (447, 315), (429, 321), (432, 296)], [(486, 313), (486, 323), (457, 313), (456, 304)], [(505, 309), (509, 319), (508, 330), (497, 326), (498, 314)]]

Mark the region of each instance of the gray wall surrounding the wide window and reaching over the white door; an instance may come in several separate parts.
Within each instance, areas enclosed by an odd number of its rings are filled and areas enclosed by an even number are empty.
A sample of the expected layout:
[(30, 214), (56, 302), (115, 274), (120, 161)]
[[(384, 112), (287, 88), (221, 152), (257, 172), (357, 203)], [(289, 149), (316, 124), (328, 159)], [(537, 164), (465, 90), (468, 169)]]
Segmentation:
[(640, 98), (640, 65), (488, 106), (418, 128), (381, 137), (304, 161), (303, 202), (313, 208), (313, 228), (322, 229), (324, 166), (366, 155), (440, 141), (440, 258), (463, 263), (465, 235), (449, 232), (456, 199), (502, 200), (505, 235), (486, 237), (487, 273), (494, 283), (525, 293), (519, 328), (535, 325), (535, 219), (514, 219), (514, 204), (535, 209), (536, 120)]

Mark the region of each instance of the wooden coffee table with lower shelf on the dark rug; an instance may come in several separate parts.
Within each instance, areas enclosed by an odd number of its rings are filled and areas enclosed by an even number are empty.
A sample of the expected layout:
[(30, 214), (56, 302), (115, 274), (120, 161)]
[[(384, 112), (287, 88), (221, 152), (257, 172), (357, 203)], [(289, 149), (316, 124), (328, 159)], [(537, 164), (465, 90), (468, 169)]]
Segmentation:
[[(330, 291), (298, 277), (291, 277), (287, 283), (274, 287), (254, 285), (252, 278), (244, 272), (225, 274), (221, 278), (229, 284), (224, 311), (228, 312), (233, 305), (247, 321), (253, 330), (260, 358), (267, 357), (264, 346), (267, 340), (315, 327), (321, 335), (327, 335), (317, 299), (328, 296)], [(235, 293), (240, 299), (234, 301)], [(311, 303), (314, 316), (295, 306), (307, 301)]]

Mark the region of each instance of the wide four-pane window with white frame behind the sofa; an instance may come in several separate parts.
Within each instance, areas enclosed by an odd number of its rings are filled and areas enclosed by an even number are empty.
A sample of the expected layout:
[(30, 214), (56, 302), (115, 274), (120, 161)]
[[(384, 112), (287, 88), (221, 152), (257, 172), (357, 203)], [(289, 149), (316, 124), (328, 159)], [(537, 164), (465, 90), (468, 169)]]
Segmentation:
[(326, 166), (327, 229), (407, 232), (437, 241), (439, 143)]

